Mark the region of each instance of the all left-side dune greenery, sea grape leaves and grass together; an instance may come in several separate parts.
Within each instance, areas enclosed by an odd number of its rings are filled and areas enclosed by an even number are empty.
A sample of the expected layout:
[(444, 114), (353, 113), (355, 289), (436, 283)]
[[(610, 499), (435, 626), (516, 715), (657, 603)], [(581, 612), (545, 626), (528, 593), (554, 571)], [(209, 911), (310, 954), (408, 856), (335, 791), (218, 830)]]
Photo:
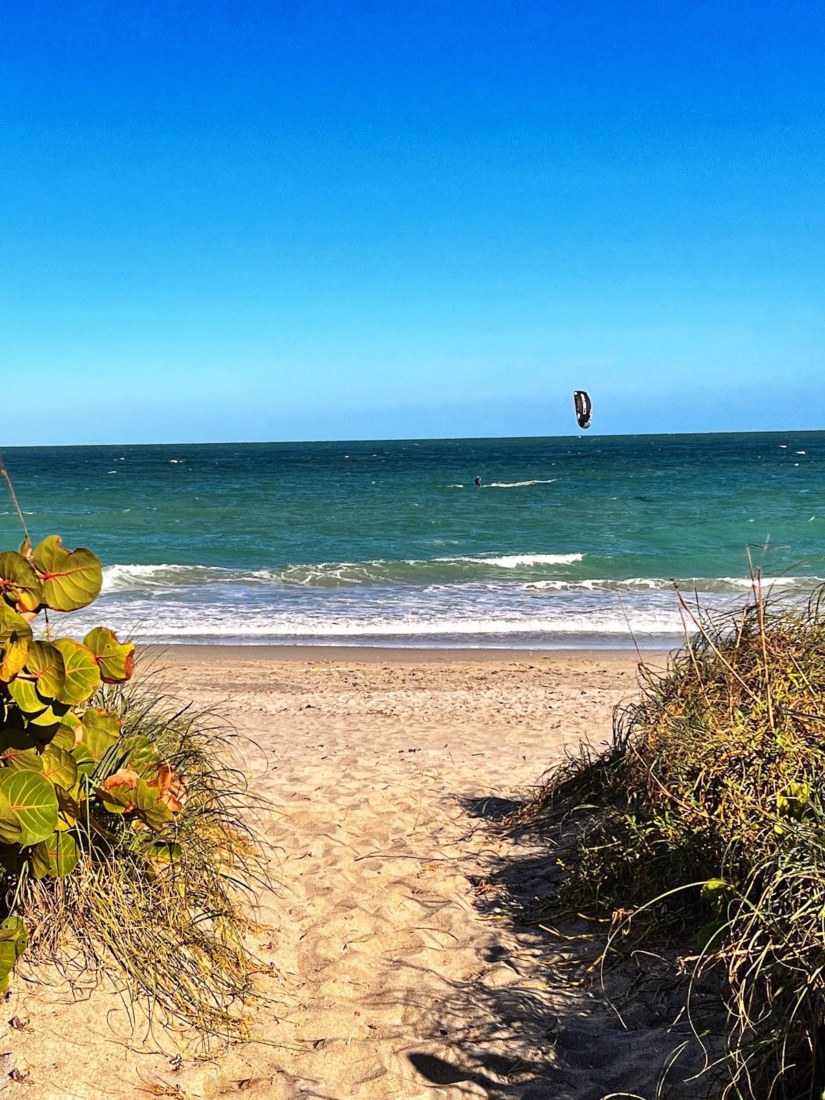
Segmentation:
[(0, 553), (0, 991), (28, 950), (237, 1037), (262, 875), (245, 779), (226, 730), (130, 682), (131, 641), (55, 629), (101, 582), (57, 536)]

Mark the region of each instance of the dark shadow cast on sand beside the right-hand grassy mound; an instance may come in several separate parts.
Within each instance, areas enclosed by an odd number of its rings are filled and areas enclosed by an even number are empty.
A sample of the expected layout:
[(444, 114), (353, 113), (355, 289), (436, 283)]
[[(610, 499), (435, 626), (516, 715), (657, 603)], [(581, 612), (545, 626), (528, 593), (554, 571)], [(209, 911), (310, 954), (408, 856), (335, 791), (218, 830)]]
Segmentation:
[(407, 1052), (417, 1079), (449, 1096), (490, 1100), (705, 1096), (707, 1079), (690, 1080), (705, 1056), (679, 1015), (684, 978), (667, 960), (637, 953), (603, 982), (593, 968), (597, 941), (579, 938), (592, 926), (553, 927), (538, 915), (559, 881), (552, 840), (522, 834), (502, 843), (498, 823), (517, 802), (460, 804), (469, 818), (485, 823), (476, 829), (491, 831), (491, 847), (469, 876), (488, 944), (479, 974), (451, 983), (438, 1005), (438, 1053)]

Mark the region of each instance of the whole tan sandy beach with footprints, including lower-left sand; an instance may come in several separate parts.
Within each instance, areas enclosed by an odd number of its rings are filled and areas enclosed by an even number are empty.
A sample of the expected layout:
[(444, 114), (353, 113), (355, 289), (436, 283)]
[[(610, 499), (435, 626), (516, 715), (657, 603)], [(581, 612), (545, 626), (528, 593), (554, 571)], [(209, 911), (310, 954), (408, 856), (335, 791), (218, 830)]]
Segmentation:
[(177, 1060), (117, 996), (73, 1000), (23, 969), (2, 1057), (29, 1075), (26, 1096), (85, 1100), (105, 1080), (123, 1098), (596, 1100), (654, 1080), (668, 1037), (649, 1021), (625, 1030), (596, 992), (560, 982), (547, 936), (496, 904), (505, 887), (541, 894), (550, 872), (546, 851), (490, 827), (565, 747), (608, 735), (635, 654), (179, 647), (152, 659), (182, 700), (254, 743), (248, 767), (274, 805), (263, 825), (278, 887), (255, 944), (273, 1003), (255, 1014), (256, 1042)]

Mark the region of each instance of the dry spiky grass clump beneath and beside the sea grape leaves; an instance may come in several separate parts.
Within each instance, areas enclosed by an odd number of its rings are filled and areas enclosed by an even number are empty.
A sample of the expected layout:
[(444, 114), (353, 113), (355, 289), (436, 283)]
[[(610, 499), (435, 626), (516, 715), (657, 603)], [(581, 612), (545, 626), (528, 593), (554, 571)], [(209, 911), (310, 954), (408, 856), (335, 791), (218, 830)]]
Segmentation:
[(246, 943), (266, 869), (252, 832), (262, 802), (230, 762), (233, 735), (179, 710), (156, 674), (105, 688), (98, 705), (122, 718), (124, 736), (156, 744), (186, 778), (186, 803), (164, 831), (166, 853), (112, 815), (105, 829), (78, 829), (72, 875), (26, 878), (30, 955), (81, 985), (114, 976), (150, 1019), (194, 1028), (207, 1048), (244, 1037), (255, 999)]

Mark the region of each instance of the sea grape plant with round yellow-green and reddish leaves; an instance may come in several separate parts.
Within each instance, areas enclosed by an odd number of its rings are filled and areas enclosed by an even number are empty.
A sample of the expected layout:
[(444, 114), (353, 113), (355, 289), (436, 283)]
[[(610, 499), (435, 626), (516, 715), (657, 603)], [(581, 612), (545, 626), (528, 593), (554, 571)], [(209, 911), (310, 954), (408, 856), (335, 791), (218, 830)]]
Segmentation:
[[(101, 684), (134, 669), (133, 642), (97, 627), (82, 641), (54, 637), (50, 612), (73, 612), (98, 596), (102, 569), (85, 548), (51, 535), (0, 553), (0, 864), (7, 898), (26, 875), (63, 877), (78, 859), (102, 856), (133, 832), (146, 859), (175, 858), (167, 828), (186, 784), (151, 738), (124, 734), (94, 704)], [(43, 612), (43, 629), (33, 623)], [(164, 835), (164, 831), (166, 831)], [(14, 901), (0, 921), (0, 991), (26, 945)]]

